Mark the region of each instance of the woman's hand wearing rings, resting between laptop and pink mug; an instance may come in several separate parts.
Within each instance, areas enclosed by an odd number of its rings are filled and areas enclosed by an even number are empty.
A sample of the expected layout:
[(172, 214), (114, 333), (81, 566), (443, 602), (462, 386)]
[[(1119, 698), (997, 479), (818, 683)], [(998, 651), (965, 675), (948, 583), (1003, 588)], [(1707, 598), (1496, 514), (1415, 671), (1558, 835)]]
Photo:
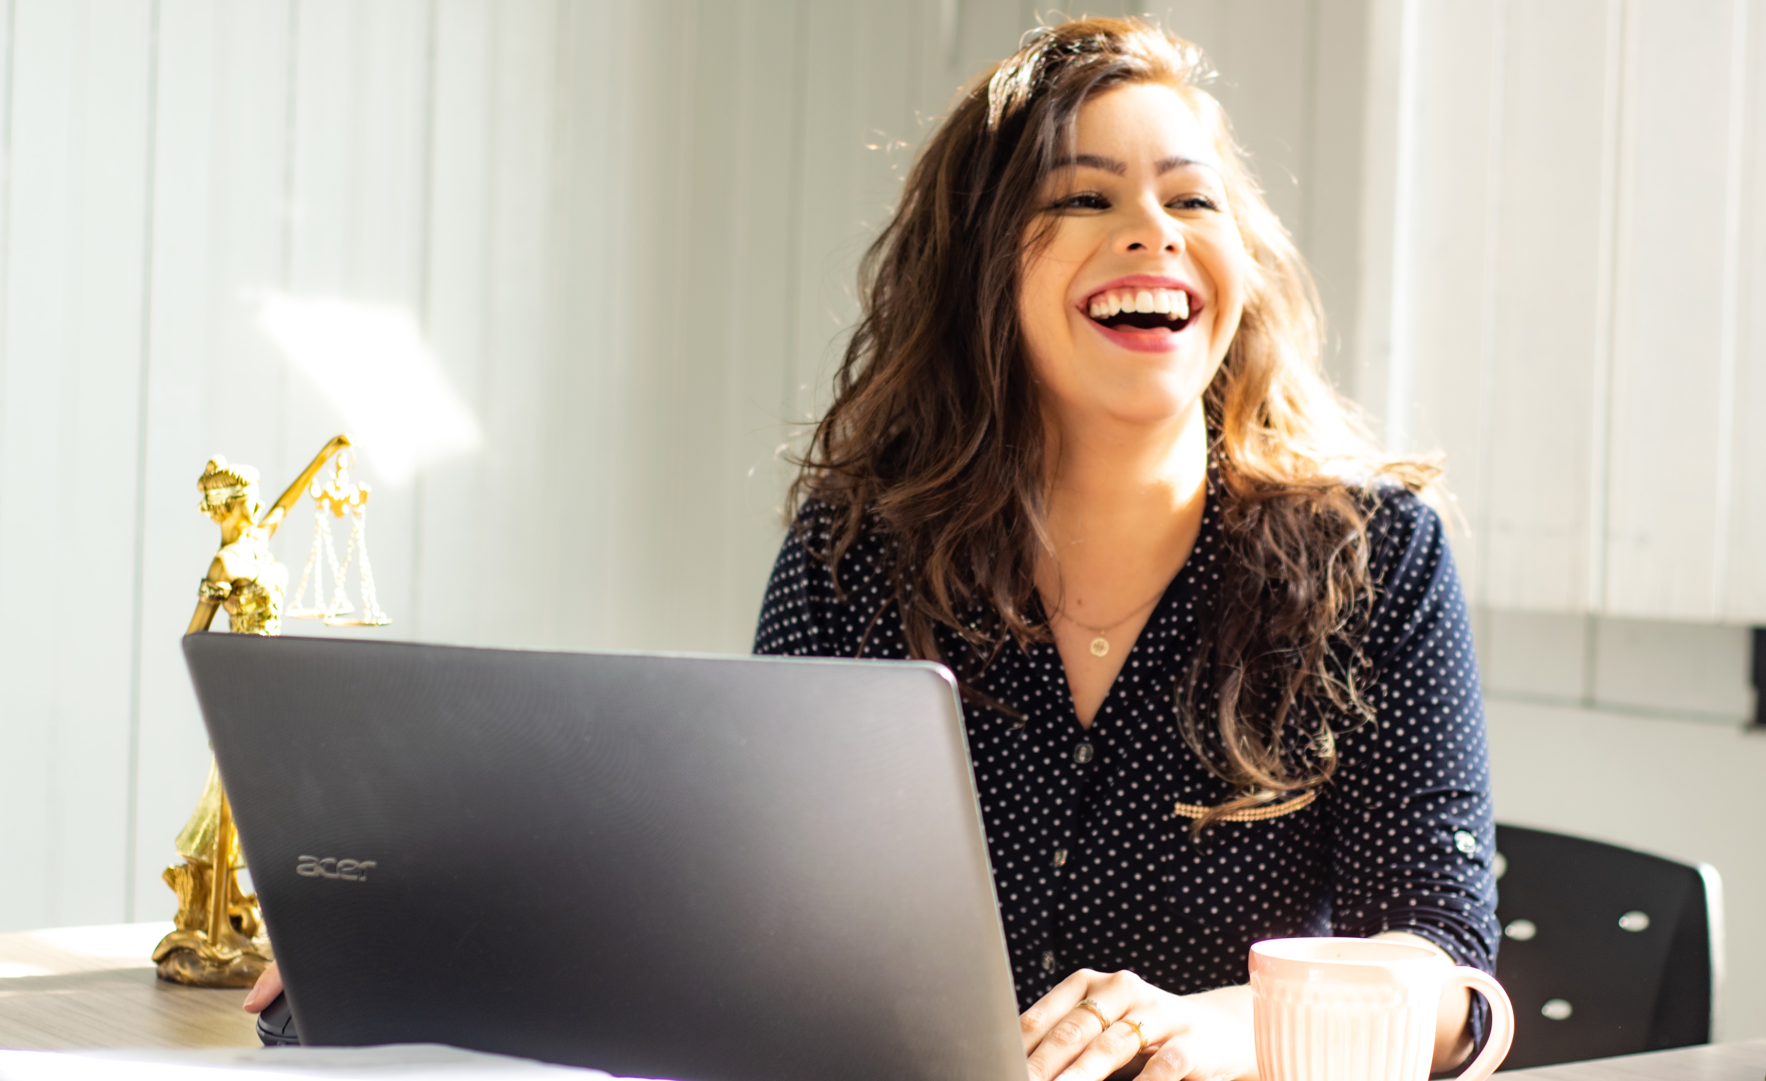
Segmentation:
[(1017, 1023), (1030, 1081), (1102, 1081), (1136, 1060), (1144, 1081), (1257, 1076), (1250, 987), (1171, 994), (1132, 971), (1081, 968)]

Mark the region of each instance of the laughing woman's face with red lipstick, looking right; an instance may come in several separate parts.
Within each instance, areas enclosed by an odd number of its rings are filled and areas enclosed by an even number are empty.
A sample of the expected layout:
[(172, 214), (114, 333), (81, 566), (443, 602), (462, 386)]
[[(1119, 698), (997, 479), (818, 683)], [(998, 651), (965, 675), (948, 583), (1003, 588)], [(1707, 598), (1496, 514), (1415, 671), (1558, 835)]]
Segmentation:
[(1176, 90), (1088, 101), (1038, 194), (1019, 320), (1058, 422), (1158, 424), (1208, 387), (1238, 330), (1250, 256), (1213, 141)]

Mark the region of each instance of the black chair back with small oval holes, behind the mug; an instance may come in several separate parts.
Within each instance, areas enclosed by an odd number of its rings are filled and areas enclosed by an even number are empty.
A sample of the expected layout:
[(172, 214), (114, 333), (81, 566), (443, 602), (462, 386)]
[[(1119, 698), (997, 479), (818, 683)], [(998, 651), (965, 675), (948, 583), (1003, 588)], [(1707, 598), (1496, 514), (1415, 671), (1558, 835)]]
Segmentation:
[(1713, 867), (1510, 825), (1496, 850), (1496, 979), (1515, 1003), (1505, 1069), (1709, 1042)]

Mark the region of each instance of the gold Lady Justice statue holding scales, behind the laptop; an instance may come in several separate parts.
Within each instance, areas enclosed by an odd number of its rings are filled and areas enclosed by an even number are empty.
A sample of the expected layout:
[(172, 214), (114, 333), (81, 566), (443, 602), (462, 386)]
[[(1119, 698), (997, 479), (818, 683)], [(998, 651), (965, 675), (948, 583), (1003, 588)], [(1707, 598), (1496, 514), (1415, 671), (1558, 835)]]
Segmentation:
[[(258, 489), (258, 470), (247, 465), (230, 465), (219, 454), (208, 461), (208, 468), (203, 470), (196, 486), (203, 496), (200, 509), (221, 526), (221, 549), (208, 563), (208, 574), (198, 585), (196, 615), (191, 616), (191, 627), (185, 634), (208, 631), (208, 624), (223, 608), (228, 613), (228, 629), (235, 634), (281, 634), (283, 615), (316, 616), (327, 624), (381, 625), (390, 622), (380, 611), (367, 562), (369, 489), (366, 484), (350, 484), (346, 456), (339, 454), (346, 447), (350, 447), (348, 436), (337, 436), (325, 443), (325, 449), (268, 510), (265, 510), (263, 493)], [(320, 482), (320, 470), (334, 456), (337, 463), (332, 477)], [(313, 553), (307, 556), (307, 571), (295, 592), (297, 608), (284, 613), (288, 569), (270, 555), (270, 537), (275, 535), (295, 500), (309, 486), (318, 503)], [(325, 523), (327, 510), (336, 518), (351, 518), (350, 549), (341, 562), (332, 548), (330, 526)], [(298, 608), (300, 597), (306, 593), (307, 578), (313, 574), (321, 546), (330, 556), (336, 593), (325, 604), (325, 590), (320, 586), (320, 604), (304, 609)], [(351, 606), (344, 595), (344, 571), (357, 555), (360, 555), (362, 567), (364, 611), (362, 618), (346, 620), (343, 616), (351, 611)], [(323, 576), (323, 569), (320, 569), (321, 583)], [(162, 874), (166, 885), (178, 896), (177, 929), (154, 947), (159, 979), (198, 987), (249, 987), (274, 959), (274, 954), (270, 940), (263, 933), (256, 894), (247, 894), (238, 885), (238, 869), (244, 867), (238, 832), (233, 828), (233, 811), (214, 763), (208, 765), (208, 784), (196, 804), (196, 813), (178, 834), (177, 844), (184, 862), (166, 867)], [(215, 869), (224, 869), (224, 873), (217, 874)]]

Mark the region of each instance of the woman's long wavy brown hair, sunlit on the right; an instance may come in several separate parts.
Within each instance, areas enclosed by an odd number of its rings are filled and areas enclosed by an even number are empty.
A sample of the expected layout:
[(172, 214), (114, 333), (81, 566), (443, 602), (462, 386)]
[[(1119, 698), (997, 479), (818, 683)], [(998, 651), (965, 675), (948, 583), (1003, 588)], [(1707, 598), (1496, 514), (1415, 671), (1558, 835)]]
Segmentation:
[[(1197, 832), (1332, 775), (1333, 722), (1369, 715), (1356, 643), (1374, 599), (1370, 493), (1420, 491), (1438, 472), (1385, 456), (1326, 383), (1312, 277), (1203, 88), (1210, 78), (1201, 49), (1148, 23), (1083, 19), (1031, 32), (970, 87), (865, 254), (862, 318), (789, 500), (793, 512), (807, 498), (834, 509), (816, 549), (830, 569), (864, 532), (885, 532), (908, 648), (966, 684), (1007, 641), (1049, 634), (1033, 602), (1038, 551), (1053, 549), (1017, 316), (1024, 238), (1045, 235), (1037, 196), (1086, 99), (1173, 87), (1213, 134), (1254, 263), (1204, 392), (1229, 558), (1203, 648), (1176, 673), (1183, 737), (1231, 784)], [(940, 650), (938, 629), (966, 655)]]

